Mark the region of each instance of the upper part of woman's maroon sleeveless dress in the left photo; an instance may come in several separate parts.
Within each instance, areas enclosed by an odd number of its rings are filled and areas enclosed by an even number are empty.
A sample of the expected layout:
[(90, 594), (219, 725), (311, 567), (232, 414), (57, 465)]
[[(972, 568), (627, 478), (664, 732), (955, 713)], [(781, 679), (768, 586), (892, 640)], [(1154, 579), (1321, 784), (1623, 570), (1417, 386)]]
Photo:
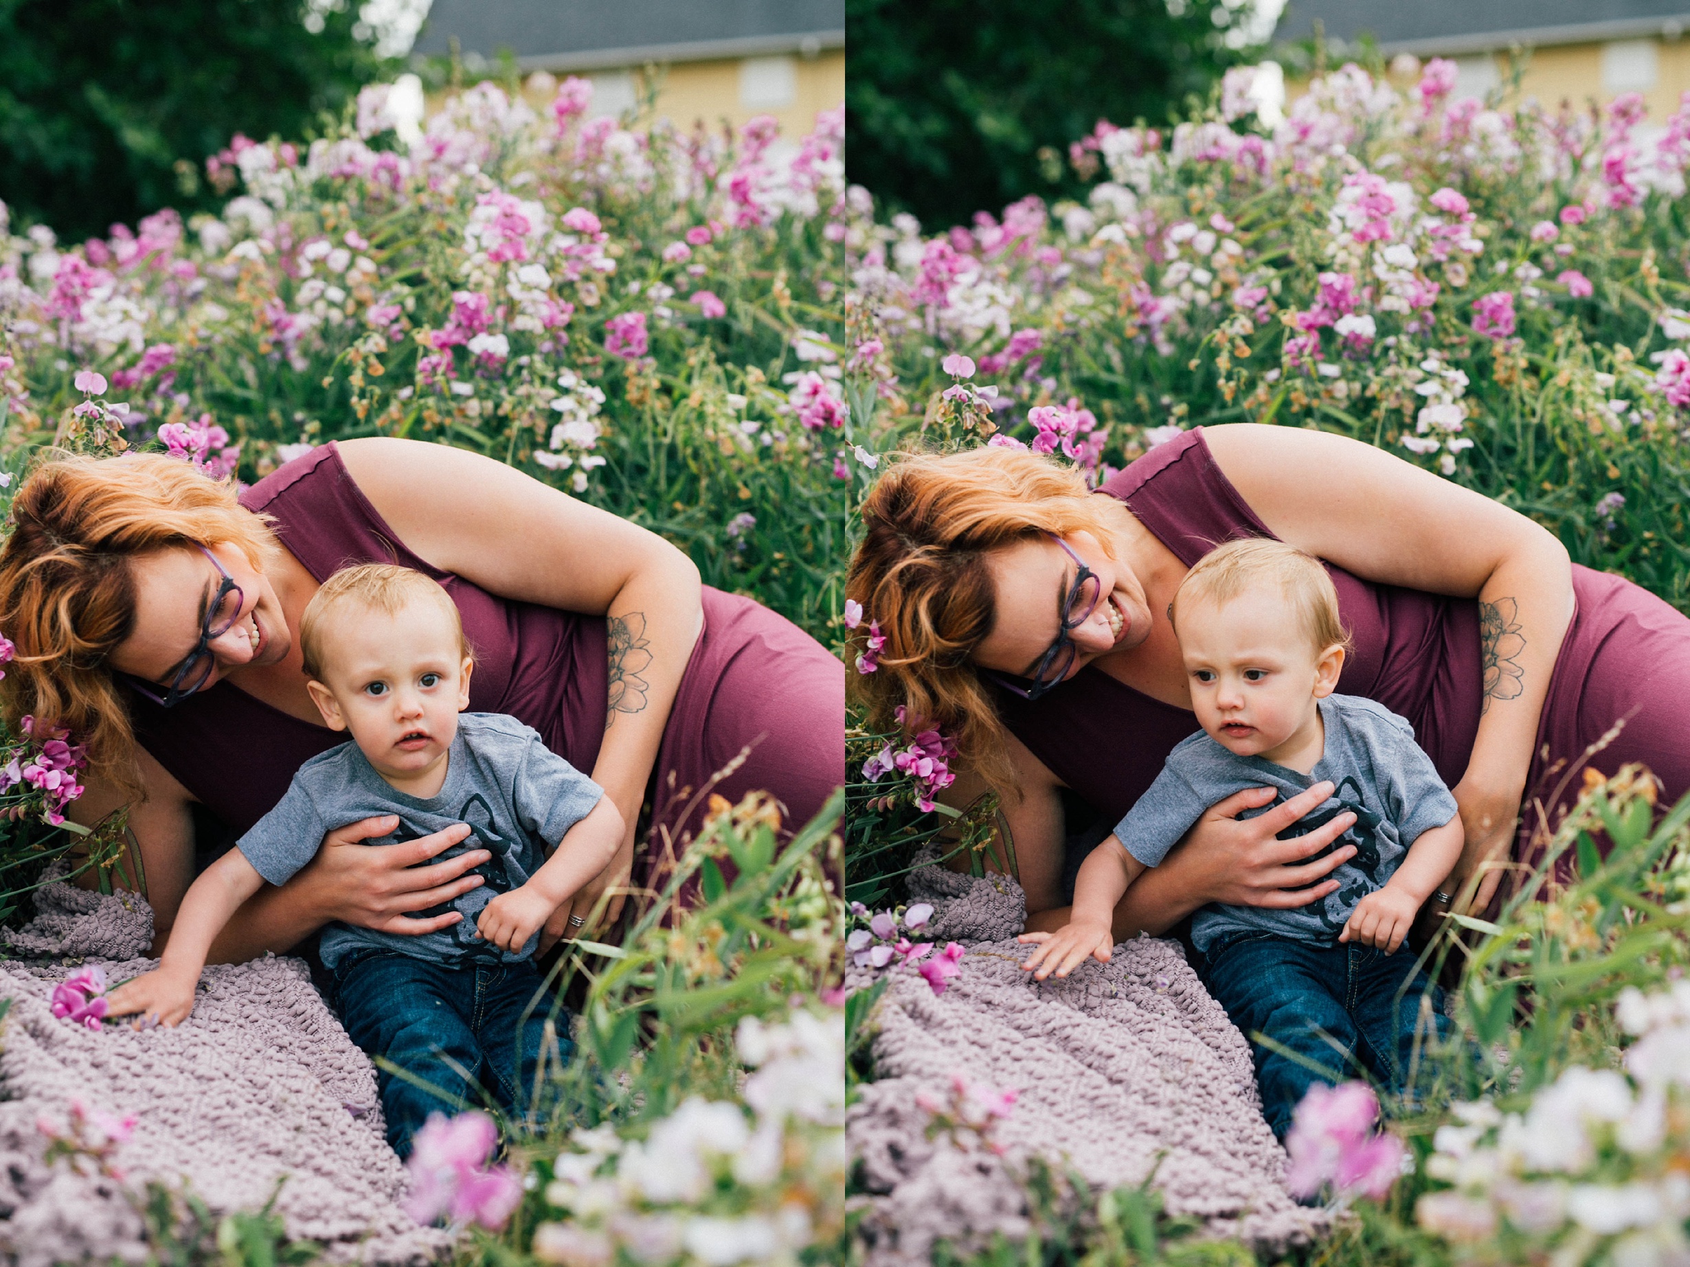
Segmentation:
[[(608, 691), (603, 617), (499, 598), (424, 563), (375, 512), (333, 443), (267, 475), (240, 503), (272, 515), (282, 546), (319, 583), (358, 563), (399, 563), (439, 581), (475, 649), (470, 710), (509, 713), (571, 765), (593, 769)], [(140, 745), (237, 833), (282, 799), (304, 762), (346, 742), (230, 682), (171, 710), (134, 693), (130, 704)]]

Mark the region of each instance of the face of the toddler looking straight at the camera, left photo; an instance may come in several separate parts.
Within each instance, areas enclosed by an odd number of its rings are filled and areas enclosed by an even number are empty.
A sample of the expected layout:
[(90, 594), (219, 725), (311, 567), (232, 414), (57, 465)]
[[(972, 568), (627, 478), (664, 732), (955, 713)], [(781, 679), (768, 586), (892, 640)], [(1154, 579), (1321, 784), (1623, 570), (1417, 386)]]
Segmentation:
[(470, 706), (472, 661), (434, 603), (397, 615), (346, 603), (324, 630), (323, 682), (308, 682), (331, 730), (350, 730), (389, 782), (428, 777), (446, 759)]

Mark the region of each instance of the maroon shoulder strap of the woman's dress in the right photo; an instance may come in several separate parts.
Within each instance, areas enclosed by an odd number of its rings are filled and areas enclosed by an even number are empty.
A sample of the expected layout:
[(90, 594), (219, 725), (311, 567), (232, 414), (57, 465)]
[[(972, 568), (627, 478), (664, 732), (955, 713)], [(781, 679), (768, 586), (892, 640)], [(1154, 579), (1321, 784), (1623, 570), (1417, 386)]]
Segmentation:
[(1215, 465), (1202, 427), (1158, 444), (1098, 492), (1126, 502), (1186, 568), (1224, 541), (1273, 536)]

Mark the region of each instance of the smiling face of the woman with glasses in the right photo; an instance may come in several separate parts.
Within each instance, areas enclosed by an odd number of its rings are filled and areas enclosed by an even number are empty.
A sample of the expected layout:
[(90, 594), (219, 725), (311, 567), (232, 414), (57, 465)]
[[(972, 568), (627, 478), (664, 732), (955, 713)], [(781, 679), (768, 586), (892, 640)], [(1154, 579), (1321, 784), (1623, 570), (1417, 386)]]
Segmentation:
[[(1097, 537), (1071, 532), (1063, 541), (1097, 576), (1102, 593), (1092, 613), (1068, 630), (1075, 655), (1065, 676), (1071, 677), (1098, 655), (1144, 642), (1151, 632), (1151, 612), (1139, 578), (1119, 559), (1104, 554)], [(1061, 632), (1063, 601), (1080, 568), (1051, 537), (994, 551), (985, 566), (997, 591), (997, 623), (975, 649), (973, 662), (982, 669), (1031, 677)], [(1082, 612), (1083, 605), (1071, 617)]]

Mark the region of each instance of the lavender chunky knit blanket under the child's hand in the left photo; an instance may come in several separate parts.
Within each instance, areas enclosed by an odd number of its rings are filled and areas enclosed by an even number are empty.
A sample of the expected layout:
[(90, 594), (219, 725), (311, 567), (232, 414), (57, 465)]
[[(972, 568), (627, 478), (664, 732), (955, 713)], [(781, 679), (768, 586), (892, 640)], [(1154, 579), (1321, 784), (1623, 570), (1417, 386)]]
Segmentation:
[[(147, 1181), (213, 1213), (259, 1210), (275, 1191), (287, 1235), (336, 1262), (422, 1264), (446, 1233), (402, 1210), (406, 1171), (382, 1135), (375, 1069), (324, 1007), (299, 960), (208, 968), (177, 1029), (100, 1030), (52, 1015), (52, 987), (79, 963), (120, 982), (154, 966), (152, 911), (134, 895), (52, 884), (35, 919), (0, 934), (0, 1262), (142, 1262), (132, 1196)], [(42, 1123), (71, 1100), (135, 1132), (115, 1154), (123, 1183), (47, 1164)]]

